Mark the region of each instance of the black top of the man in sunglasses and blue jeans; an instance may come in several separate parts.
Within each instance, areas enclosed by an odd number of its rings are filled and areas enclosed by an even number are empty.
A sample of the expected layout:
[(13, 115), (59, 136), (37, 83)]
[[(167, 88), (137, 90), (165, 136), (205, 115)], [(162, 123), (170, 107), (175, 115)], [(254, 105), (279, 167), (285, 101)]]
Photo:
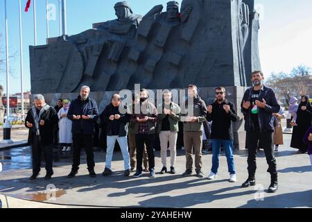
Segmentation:
[[(207, 112), (207, 121), (212, 121), (210, 138), (233, 140), (232, 121), (239, 121), (234, 103), (225, 99), (221, 104), (215, 101), (211, 105), (211, 114)], [(223, 109), (223, 105), (229, 105), (230, 110), (228, 113)]]

